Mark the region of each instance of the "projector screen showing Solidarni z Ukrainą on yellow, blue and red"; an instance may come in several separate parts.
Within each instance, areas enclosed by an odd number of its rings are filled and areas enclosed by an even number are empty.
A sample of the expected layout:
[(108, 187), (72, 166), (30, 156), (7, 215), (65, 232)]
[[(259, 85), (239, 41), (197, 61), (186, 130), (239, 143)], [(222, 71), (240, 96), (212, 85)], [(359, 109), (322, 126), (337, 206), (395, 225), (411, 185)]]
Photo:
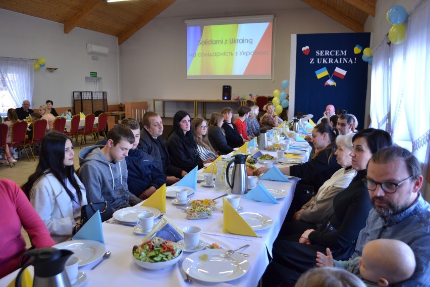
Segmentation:
[(186, 20), (187, 79), (271, 79), (273, 19)]

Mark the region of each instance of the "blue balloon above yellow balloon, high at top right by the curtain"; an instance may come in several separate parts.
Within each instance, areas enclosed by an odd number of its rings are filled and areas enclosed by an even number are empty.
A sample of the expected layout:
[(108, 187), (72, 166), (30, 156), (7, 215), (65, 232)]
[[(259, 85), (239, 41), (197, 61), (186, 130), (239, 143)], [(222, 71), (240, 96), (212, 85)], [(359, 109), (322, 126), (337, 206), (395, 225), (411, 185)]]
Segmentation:
[(386, 14), (387, 21), (393, 24), (388, 32), (388, 38), (393, 44), (400, 44), (405, 39), (405, 24), (408, 12), (403, 6), (396, 5), (390, 8)]

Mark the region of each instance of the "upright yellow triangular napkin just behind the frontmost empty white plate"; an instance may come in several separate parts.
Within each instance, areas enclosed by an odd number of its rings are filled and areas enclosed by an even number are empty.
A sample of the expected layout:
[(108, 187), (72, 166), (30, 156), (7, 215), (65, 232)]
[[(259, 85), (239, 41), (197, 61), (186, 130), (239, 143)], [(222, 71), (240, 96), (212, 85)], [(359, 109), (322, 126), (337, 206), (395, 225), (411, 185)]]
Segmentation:
[(223, 198), (224, 233), (233, 233), (246, 236), (258, 237), (251, 226), (239, 215), (226, 198)]

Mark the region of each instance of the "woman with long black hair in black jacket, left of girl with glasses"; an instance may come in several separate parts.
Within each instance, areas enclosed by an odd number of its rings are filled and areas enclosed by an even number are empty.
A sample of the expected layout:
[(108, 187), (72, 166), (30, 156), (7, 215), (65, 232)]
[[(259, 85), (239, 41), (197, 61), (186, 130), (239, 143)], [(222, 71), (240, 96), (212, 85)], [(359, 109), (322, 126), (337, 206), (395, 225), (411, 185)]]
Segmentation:
[[(167, 140), (169, 156), (172, 164), (190, 172), (193, 168), (203, 167), (203, 162), (197, 156), (197, 143), (191, 126), (191, 117), (185, 111), (178, 111), (173, 117), (173, 131)], [(204, 163), (212, 162), (208, 159)]]

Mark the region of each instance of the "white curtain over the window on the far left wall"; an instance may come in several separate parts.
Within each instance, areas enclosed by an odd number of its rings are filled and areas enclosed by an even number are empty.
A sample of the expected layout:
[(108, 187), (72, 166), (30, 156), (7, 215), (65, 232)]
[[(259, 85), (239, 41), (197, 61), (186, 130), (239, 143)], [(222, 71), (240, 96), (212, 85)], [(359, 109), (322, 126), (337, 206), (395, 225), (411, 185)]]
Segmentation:
[(33, 60), (0, 58), (0, 73), (18, 107), (24, 100), (31, 103), (34, 88)]

